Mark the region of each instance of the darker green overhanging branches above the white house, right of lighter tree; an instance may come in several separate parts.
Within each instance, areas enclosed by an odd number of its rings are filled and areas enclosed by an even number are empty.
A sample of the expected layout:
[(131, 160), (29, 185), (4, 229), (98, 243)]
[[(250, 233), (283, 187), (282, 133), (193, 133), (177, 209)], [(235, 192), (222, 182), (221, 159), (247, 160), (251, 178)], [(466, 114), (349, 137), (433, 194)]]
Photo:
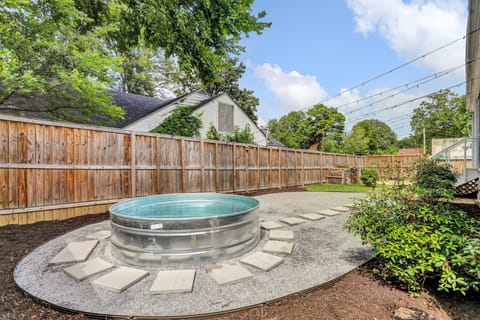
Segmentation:
[(145, 41), (163, 49), (167, 58), (175, 57), (180, 70), (193, 70), (202, 83), (220, 78), (226, 58), (244, 49), (242, 35), (261, 34), (270, 26), (261, 21), (264, 11), (251, 13), (254, 0), (120, 1), (125, 9), (116, 37), (119, 50)]

